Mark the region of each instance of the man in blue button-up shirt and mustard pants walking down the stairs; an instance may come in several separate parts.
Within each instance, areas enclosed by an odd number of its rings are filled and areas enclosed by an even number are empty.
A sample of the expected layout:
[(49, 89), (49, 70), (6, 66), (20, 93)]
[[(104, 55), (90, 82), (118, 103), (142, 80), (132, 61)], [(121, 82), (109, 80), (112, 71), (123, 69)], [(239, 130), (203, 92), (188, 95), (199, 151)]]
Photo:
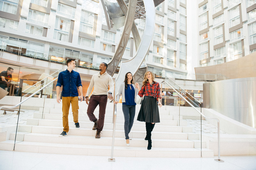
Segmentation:
[(63, 124), (63, 132), (59, 135), (60, 137), (66, 136), (69, 130), (68, 127), (68, 112), (69, 106), (71, 103), (73, 119), (76, 125), (76, 129), (80, 128), (78, 123), (78, 92), (80, 93), (81, 102), (83, 101), (83, 90), (82, 83), (79, 73), (74, 71), (76, 67), (76, 62), (74, 59), (67, 60), (68, 69), (66, 71), (62, 71), (59, 74), (56, 91), (57, 91), (57, 102), (60, 103), (60, 87), (62, 86), (62, 124)]

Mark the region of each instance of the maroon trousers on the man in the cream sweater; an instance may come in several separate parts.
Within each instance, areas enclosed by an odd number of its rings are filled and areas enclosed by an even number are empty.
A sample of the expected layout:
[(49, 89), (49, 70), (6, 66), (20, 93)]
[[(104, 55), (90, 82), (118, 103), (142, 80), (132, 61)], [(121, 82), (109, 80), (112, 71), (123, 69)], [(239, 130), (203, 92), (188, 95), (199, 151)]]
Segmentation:
[(104, 118), (106, 112), (106, 106), (108, 101), (108, 95), (92, 95), (88, 108), (87, 108), (87, 115), (92, 122), (95, 122), (97, 118), (93, 114), (96, 107), (99, 105), (99, 119), (97, 125), (97, 131), (102, 131), (104, 126)]

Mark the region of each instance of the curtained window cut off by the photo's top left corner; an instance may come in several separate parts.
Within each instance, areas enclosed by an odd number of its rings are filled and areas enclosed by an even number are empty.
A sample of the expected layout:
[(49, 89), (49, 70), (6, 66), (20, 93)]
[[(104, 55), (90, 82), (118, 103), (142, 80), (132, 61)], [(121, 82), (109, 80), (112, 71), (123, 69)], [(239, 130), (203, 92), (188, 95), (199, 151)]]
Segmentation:
[(19, 0), (1, 0), (0, 11), (16, 14)]

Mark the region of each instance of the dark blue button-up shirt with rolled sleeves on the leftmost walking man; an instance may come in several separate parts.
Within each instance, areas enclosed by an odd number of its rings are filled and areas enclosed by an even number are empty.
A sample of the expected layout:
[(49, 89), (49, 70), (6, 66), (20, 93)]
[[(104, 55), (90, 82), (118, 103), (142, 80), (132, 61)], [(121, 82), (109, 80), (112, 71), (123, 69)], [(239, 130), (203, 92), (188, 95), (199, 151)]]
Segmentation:
[(63, 97), (78, 96), (77, 87), (82, 86), (79, 73), (74, 70), (69, 72), (68, 69), (60, 72), (56, 86), (63, 86)]

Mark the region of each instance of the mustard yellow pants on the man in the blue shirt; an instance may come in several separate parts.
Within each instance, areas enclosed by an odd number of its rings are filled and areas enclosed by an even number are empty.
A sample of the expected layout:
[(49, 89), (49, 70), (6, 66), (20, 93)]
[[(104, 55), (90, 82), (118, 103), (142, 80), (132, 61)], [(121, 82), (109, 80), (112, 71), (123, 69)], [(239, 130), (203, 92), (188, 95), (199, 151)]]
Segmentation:
[(63, 131), (68, 132), (69, 127), (68, 127), (68, 113), (69, 113), (69, 107), (72, 107), (72, 112), (73, 112), (73, 119), (74, 122), (78, 122), (78, 96), (75, 97), (62, 97), (62, 124), (63, 124)]

